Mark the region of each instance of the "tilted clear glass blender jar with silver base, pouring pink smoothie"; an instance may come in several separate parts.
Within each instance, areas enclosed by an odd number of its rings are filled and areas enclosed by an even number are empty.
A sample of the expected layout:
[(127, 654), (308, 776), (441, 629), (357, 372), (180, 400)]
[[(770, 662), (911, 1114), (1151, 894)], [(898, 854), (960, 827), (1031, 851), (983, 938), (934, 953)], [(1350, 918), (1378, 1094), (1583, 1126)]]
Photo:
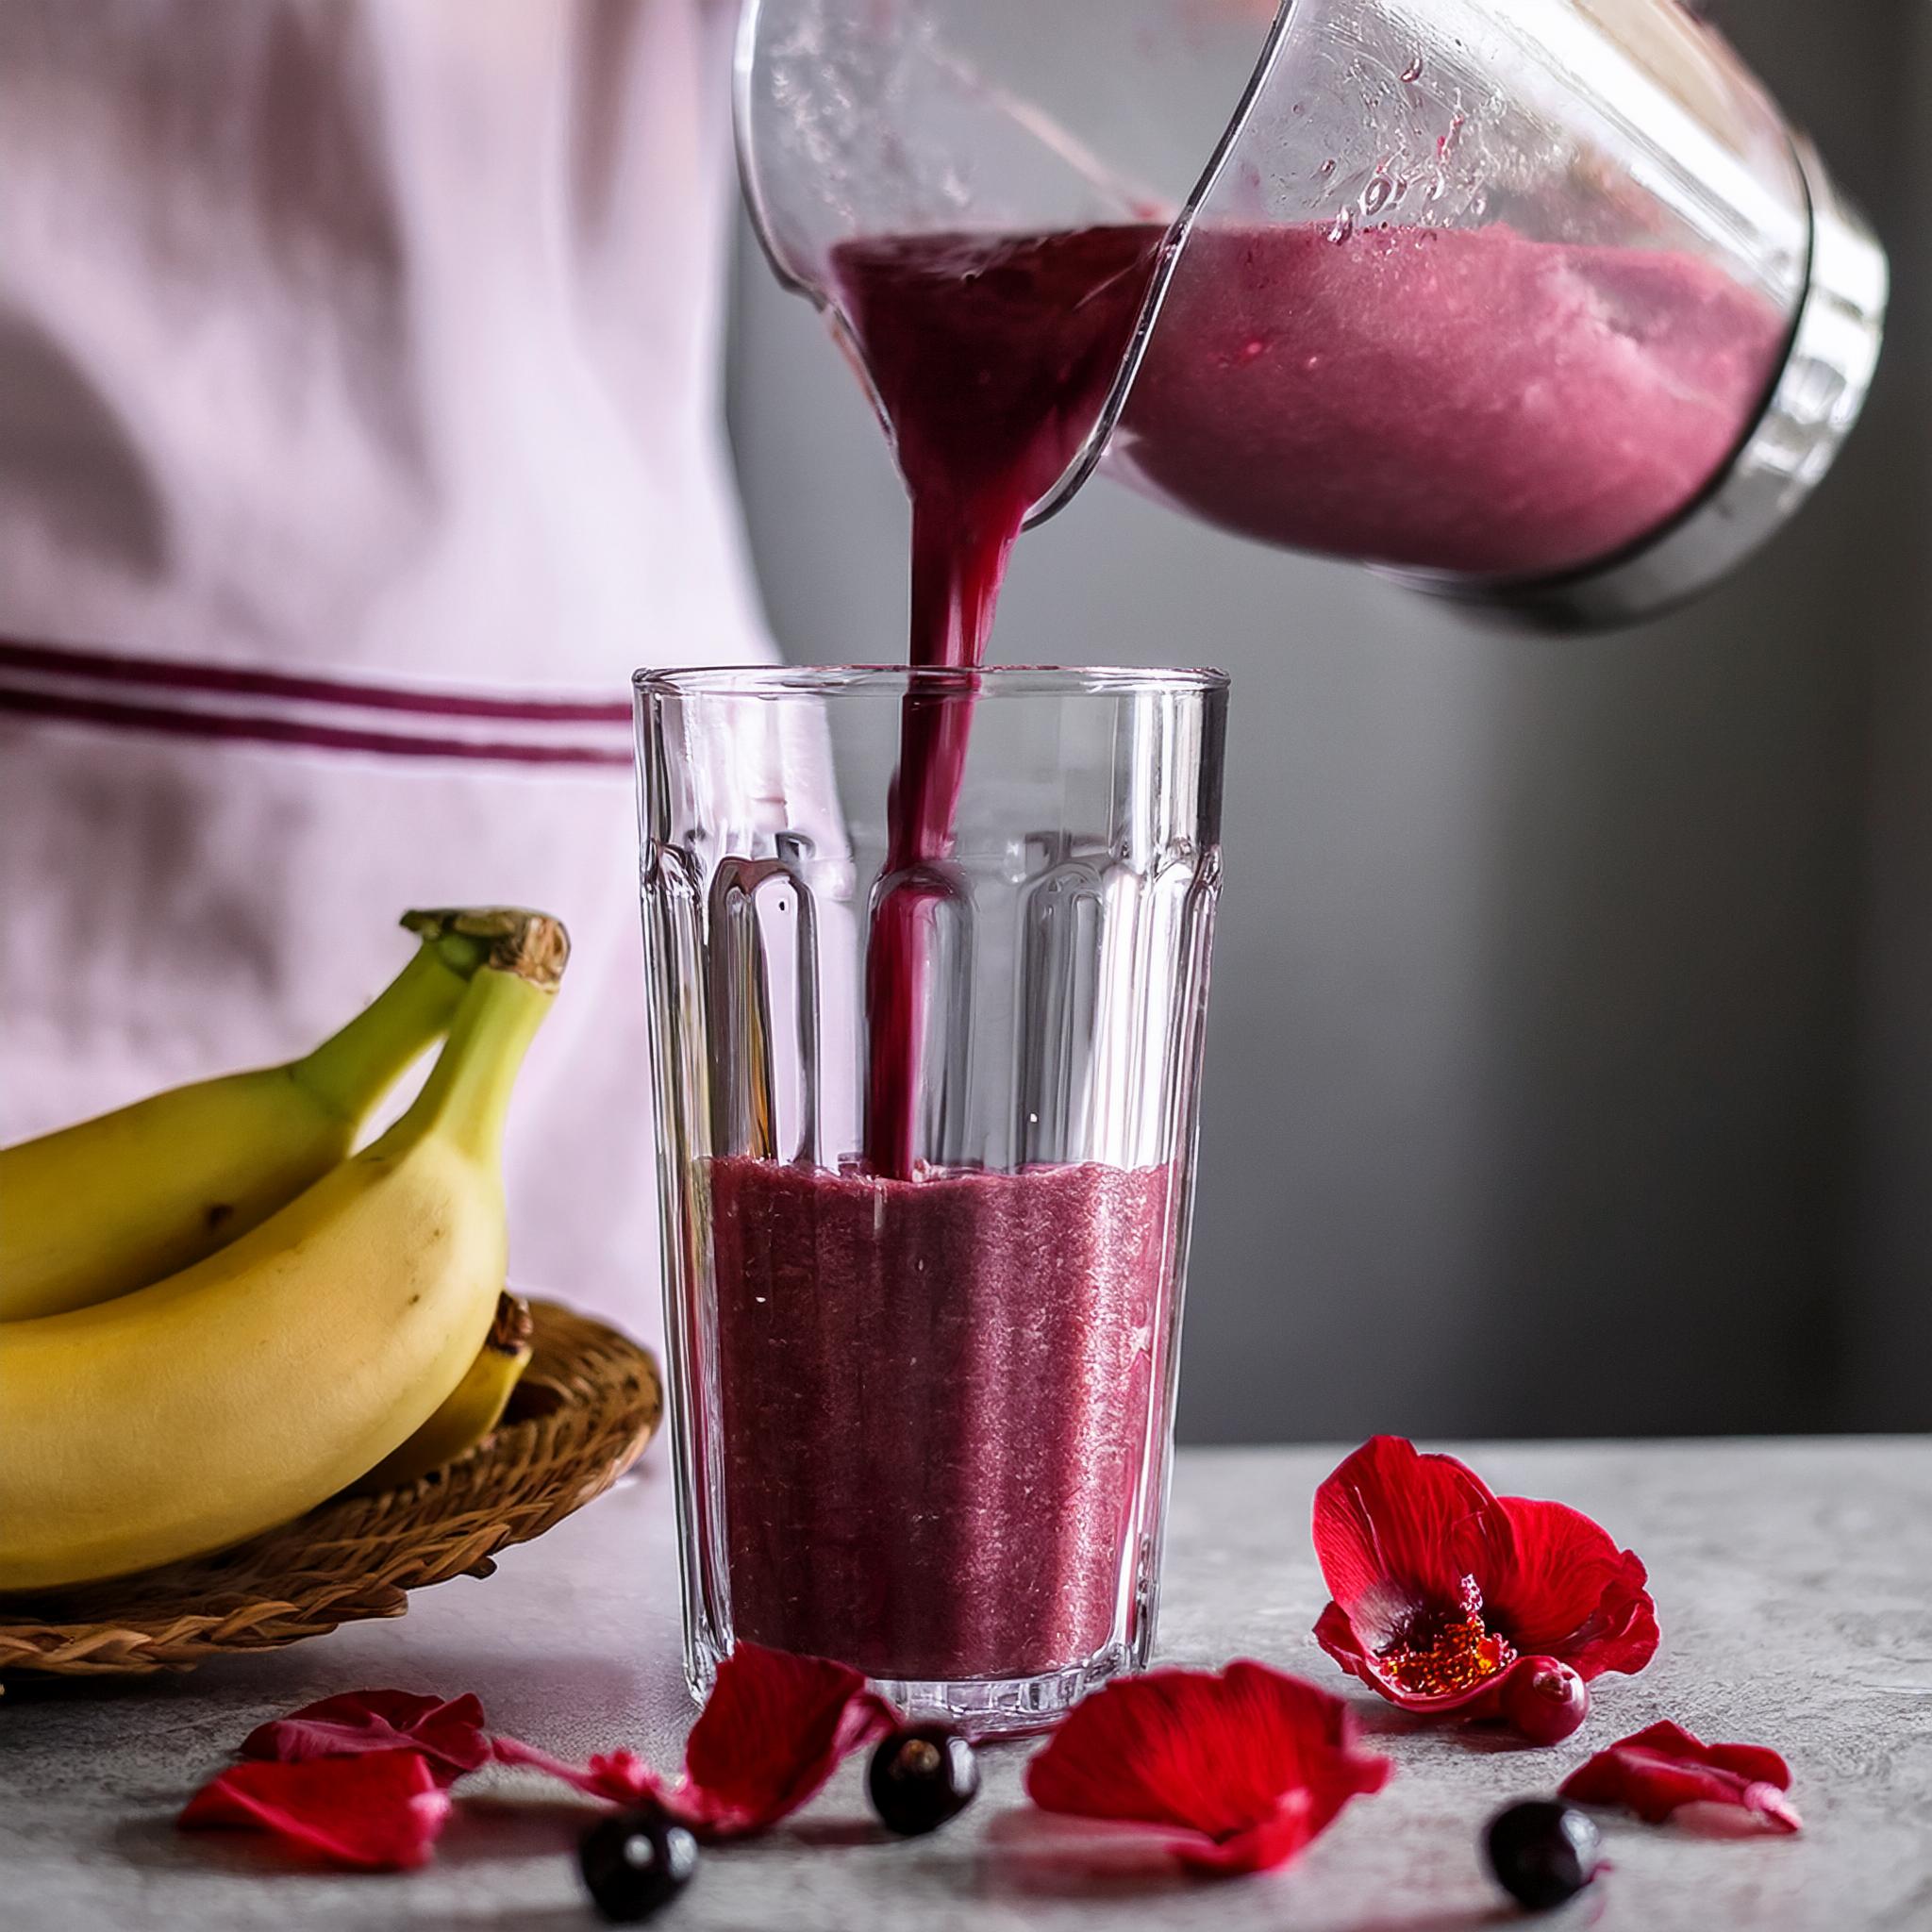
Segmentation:
[(1677, 0), (748, 0), (738, 141), (889, 431), (881, 290), (989, 357), (1130, 303), (1030, 524), (1107, 468), (1551, 628), (1762, 543), (1878, 355), (1884, 253)]

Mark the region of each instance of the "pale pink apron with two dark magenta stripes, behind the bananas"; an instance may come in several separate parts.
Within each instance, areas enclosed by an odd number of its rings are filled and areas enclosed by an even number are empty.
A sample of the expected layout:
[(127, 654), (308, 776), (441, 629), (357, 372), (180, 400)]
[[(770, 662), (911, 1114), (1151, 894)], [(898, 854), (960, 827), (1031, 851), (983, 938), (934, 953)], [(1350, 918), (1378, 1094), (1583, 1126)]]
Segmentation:
[(657, 1329), (628, 674), (769, 653), (726, 8), (0, 8), (0, 1140), (564, 916), (512, 1271)]

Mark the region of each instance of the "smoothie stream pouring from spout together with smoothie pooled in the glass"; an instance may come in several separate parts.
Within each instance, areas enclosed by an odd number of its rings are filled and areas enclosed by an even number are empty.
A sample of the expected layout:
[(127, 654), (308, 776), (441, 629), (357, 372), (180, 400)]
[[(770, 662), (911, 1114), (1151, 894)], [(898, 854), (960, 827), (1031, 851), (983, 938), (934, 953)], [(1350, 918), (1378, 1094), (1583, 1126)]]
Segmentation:
[[(945, 280), (895, 274), (893, 253), (850, 263), (912, 495), (916, 667), (983, 663), (1012, 541), (1146, 296), (1159, 238), (1121, 240), (968, 251)], [(1024, 336), (985, 327), (1009, 313)], [(734, 1629), (891, 1681), (1051, 1673), (1105, 1648), (1171, 1325), (1165, 1165), (958, 1171), (923, 1142), (972, 719), (970, 684), (902, 703), (860, 1157), (709, 1177)]]

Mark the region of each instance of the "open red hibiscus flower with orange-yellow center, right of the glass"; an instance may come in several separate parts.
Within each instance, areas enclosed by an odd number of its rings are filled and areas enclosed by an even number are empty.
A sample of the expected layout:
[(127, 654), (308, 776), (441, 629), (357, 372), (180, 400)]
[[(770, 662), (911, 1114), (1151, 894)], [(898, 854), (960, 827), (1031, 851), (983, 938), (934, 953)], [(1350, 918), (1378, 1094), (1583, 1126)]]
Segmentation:
[(1656, 1654), (1629, 1549), (1563, 1503), (1492, 1495), (1455, 1457), (1399, 1435), (1362, 1443), (1321, 1484), (1314, 1536), (1333, 1598), (1316, 1638), (1405, 1710), (1507, 1718), (1534, 1708), (1546, 1660), (1588, 1681)]

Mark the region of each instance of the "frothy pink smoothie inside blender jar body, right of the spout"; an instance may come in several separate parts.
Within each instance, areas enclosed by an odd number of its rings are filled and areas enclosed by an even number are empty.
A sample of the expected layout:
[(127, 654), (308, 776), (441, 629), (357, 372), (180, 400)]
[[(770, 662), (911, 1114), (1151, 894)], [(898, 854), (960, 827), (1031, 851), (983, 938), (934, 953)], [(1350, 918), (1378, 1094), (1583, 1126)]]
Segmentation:
[(1267, 543), (1548, 576), (1652, 535), (1718, 475), (1785, 336), (1675, 249), (1204, 226), (1111, 454)]

